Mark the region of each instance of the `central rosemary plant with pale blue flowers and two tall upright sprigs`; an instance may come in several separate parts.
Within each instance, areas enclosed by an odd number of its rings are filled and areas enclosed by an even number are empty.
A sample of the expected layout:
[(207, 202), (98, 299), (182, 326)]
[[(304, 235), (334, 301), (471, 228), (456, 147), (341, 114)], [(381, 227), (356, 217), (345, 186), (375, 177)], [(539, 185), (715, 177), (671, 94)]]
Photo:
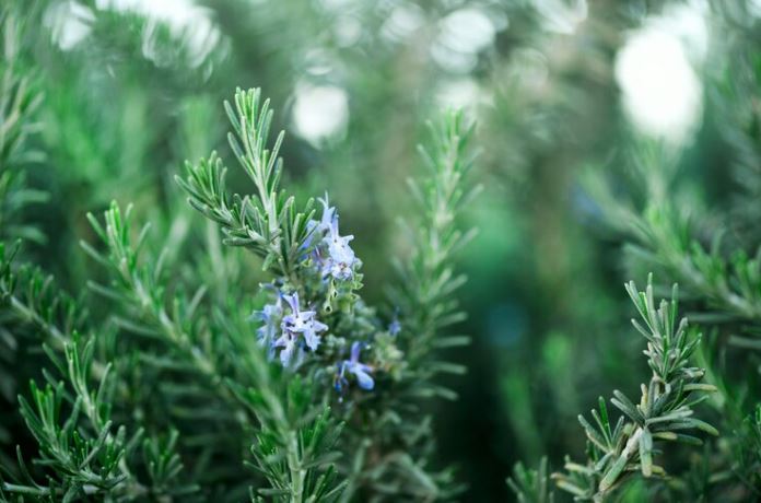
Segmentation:
[[(391, 286), (396, 305), (385, 311), (394, 315), (384, 319), (356, 293), (362, 286), (362, 262), (350, 247), (353, 236), (340, 234), (339, 217), (328, 196), (319, 199), (317, 218), (312, 200), (297, 210), (294, 198), (280, 189), (278, 150), (283, 134), (268, 149), (269, 102), (261, 100), (259, 90), (238, 91), (235, 105), (226, 104), (225, 109), (234, 129), (231, 148), (257, 196), (229, 196), (225, 168), (213, 153), (198, 165), (188, 165), (187, 178), (178, 182), (189, 194), (190, 204), (221, 226), (225, 244), (251, 249), (272, 273), (272, 281), (262, 285), (268, 302), (251, 317), (259, 324), (257, 335), (267, 359), (253, 365), (271, 367), (266, 360), (279, 362), (282, 373), (277, 381), (304, 383), (296, 385), (305, 387), (300, 393), (312, 397), (311, 403), (300, 406), (303, 417), (327, 421), (328, 409), (315, 407), (332, 406), (333, 416), (346, 424), (342, 444), (350, 446), (346, 452), (352, 457), (344, 456), (337, 467), (346, 487), (327, 494), (342, 490), (343, 501), (360, 494), (426, 499), (453, 494), (457, 488), (452, 486), (450, 472), (430, 472), (426, 467), (430, 419), (411, 423), (402, 414), (417, 414), (420, 397), (452, 397), (431, 378), (438, 372), (463, 371), (436, 361), (434, 350), (467, 341), (436, 336), (461, 319), (450, 294), (463, 279), (453, 276), (450, 257), (469, 237), (456, 230), (454, 218), (467, 196), (461, 187), (470, 167), (465, 152), (470, 128), (464, 126), (460, 114), (450, 114), (432, 127), (432, 150), (423, 150), (430, 182), (412, 185), (423, 214), (412, 230), (417, 246), (407, 262), (398, 262), (401, 288)], [(236, 389), (272, 435), (254, 446), (258, 468), (274, 488), (290, 488), (301, 501), (309, 478), (300, 468), (305, 465), (298, 447), (304, 433), (297, 432), (296, 424), (303, 420), (282, 417), (277, 396), (265, 399), (261, 393), (261, 386), (256, 391)], [(258, 401), (269, 409), (262, 410)], [(282, 471), (267, 466), (274, 453), (286, 460)], [(335, 459), (331, 454), (312, 457), (321, 464)]]

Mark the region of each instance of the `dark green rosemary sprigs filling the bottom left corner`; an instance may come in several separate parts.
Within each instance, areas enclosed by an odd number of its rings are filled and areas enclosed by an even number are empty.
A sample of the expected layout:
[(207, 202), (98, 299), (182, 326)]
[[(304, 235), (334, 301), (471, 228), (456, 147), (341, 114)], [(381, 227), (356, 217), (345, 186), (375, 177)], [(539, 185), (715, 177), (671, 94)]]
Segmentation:
[[(128, 437), (124, 425), (114, 426), (117, 383), (112, 365), (95, 360), (94, 336), (81, 336), (74, 328), (82, 320), (74, 303), (56, 292), (50, 279), (43, 279), (37, 270), (21, 268), (14, 273), (11, 267), (11, 257), (3, 255), (4, 314), (36, 327), (43, 336), (37, 344), (45, 349), (54, 372), (43, 373), (45, 387), (32, 382), (31, 400), (19, 396), (20, 414), (39, 447), (35, 465), (45, 467), (45, 481), (35, 480), (19, 451), (20, 471), (8, 471), (14, 481), (3, 482), (2, 491), (31, 501), (78, 501), (96, 494), (130, 501), (148, 494), (195, 492), (194, 486), (166, 487), (166, 480), (182, 469), (173, 443), (159, 451), (153, 445), (157, 441), (143, 438), (142, 429)], [(139, 482), (130, 470), (137, 466), (133, 459), (141, 442), (142, 463), (151, 470), (150, 484)], [(173, 473), (162, 473), (167, 461)]]

